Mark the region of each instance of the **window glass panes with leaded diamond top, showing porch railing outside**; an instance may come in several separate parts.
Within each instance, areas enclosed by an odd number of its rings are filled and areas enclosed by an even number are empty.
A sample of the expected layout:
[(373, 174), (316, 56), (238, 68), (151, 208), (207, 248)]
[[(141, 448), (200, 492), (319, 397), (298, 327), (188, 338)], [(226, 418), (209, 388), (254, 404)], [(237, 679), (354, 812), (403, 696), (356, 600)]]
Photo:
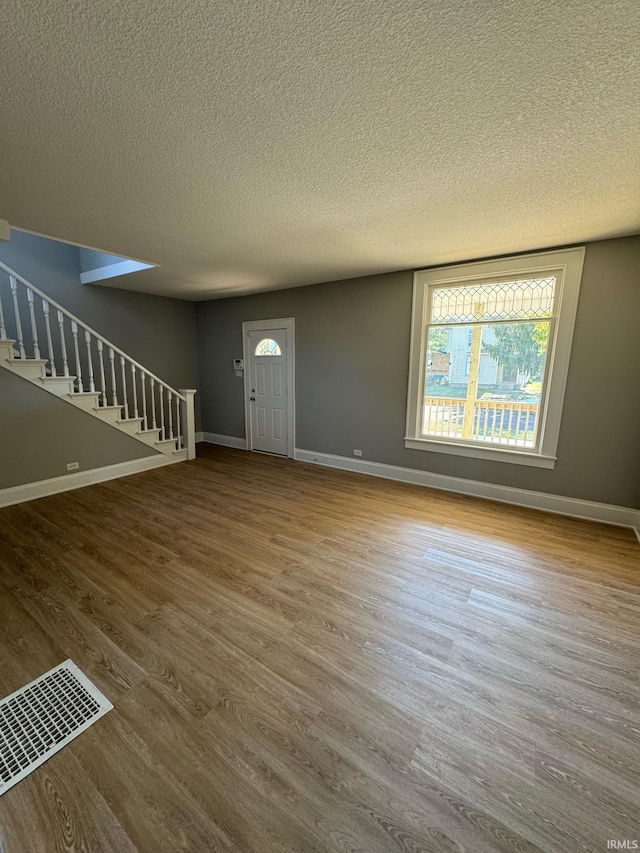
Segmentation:
[(422, 435), (536, 445), (555, 278), (434, 288)]

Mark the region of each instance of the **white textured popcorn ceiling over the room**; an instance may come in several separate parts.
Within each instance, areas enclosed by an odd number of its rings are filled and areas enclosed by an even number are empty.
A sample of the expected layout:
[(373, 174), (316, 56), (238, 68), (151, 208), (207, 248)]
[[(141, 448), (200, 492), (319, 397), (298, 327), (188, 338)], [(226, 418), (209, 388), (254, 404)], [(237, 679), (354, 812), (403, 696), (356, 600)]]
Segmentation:
[(190, 299), (640, 231), (638, 0), (5, 0), (0, 218)]

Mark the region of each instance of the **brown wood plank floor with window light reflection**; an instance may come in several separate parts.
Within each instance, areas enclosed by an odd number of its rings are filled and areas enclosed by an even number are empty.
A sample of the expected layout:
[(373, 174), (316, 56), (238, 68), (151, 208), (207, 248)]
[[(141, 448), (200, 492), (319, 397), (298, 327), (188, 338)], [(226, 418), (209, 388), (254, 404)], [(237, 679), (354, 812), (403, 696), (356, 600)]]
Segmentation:
[(3, 853), (640, 840), (630, 531), (199, 453), (0, 510), (0, 693), (71, 657), (115, 705)]

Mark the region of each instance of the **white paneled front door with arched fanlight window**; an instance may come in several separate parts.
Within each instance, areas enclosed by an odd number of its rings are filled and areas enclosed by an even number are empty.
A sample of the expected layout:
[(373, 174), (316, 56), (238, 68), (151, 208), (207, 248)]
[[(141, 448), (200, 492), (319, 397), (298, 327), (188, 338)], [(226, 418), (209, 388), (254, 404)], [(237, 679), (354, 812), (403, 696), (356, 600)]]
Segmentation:
[(249, 338), (251, 449), (287, 455), (287, 329), (252, 329)]

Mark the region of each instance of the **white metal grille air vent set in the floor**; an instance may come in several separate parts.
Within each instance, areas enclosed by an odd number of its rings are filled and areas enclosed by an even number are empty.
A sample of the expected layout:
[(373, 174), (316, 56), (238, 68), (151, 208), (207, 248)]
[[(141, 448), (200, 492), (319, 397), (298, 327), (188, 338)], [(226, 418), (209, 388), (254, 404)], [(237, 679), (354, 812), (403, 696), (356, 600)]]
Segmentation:
[(0, 702), (0, 796), (113, 708), (68, 660)]

